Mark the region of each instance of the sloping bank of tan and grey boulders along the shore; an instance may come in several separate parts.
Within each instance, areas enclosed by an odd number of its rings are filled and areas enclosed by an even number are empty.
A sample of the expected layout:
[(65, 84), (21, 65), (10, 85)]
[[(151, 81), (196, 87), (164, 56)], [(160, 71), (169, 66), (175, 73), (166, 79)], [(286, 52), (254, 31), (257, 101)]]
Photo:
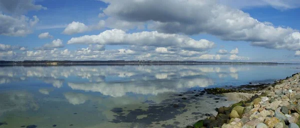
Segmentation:
[(216, 116), (188, 127), (299, 127), (300, 73), (259, 90), (248, 100), (216, 108), (216, 111)]

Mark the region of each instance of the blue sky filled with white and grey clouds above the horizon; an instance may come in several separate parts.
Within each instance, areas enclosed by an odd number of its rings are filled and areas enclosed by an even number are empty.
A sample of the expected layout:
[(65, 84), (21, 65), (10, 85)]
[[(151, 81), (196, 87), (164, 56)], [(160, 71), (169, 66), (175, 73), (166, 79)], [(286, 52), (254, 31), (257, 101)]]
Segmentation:
[(0, 0), (0, 60), (300, 63), (299, 0)]

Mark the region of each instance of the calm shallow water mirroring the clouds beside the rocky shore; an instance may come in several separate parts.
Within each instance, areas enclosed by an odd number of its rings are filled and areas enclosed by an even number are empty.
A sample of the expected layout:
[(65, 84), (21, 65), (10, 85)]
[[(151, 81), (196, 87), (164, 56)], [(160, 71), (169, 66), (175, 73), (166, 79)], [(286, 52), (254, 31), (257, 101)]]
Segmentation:
[(0, 127), (184, 127), (233, 103), (194, 96), (201, 89), (272, 82), (298, 66), (2, 65)]

